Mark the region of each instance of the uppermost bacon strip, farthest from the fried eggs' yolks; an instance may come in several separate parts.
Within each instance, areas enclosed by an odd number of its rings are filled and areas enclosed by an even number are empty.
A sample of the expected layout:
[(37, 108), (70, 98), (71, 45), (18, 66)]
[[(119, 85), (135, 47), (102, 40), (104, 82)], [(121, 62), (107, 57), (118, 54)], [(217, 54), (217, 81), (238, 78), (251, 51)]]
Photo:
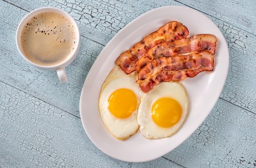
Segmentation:
[(136, 70), (137, 61), (147, 51), (165, 41), (179, 40), (186, 38), (189, 30), (180, 22), (168, 22), (157, 31), (145, 36), (126, 52), (122, 53), (116, 60), (116, 64), (126, 73), (130, 74)]

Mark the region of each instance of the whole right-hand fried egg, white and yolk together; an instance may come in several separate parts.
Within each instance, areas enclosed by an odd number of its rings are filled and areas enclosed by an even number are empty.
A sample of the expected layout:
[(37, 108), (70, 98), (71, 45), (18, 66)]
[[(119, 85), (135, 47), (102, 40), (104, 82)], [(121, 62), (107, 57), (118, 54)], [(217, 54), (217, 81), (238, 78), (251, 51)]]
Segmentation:
[(137, 122), (148, 139), (170, 137), (188, 112), (188, 97), (180, 82), (162, 82), (141, 97)]

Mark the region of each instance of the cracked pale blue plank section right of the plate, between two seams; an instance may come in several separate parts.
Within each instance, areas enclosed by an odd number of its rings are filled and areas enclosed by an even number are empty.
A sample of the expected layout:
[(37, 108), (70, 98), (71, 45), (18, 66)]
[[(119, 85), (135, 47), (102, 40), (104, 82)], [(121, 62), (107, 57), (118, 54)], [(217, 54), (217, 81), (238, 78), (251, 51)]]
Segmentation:
[(212, 20), (222, 31), (230, 56), (229, 72), (220, 97), (256, 114), (256, 36), (215, 18)]

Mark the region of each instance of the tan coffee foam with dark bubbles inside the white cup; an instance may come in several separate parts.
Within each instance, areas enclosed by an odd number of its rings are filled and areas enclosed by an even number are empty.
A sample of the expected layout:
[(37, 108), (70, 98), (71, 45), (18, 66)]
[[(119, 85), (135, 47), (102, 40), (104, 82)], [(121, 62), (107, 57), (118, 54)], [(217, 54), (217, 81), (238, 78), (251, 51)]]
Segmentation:
[(52, 66), (63, 62), (75, 46), (74, 26), (59, 13), (40, 13), (22, 29), (22, 50), (29, 60), (39, 65)]

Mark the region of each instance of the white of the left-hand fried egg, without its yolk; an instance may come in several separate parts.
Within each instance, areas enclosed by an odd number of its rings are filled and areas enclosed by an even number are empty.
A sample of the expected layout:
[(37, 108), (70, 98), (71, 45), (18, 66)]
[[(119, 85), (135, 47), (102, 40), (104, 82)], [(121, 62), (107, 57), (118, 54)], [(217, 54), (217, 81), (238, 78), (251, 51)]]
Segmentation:
[[(137, 72), (132, 72), (127, 75), (119, 68), (119, 66), (115, 66), (107, 76), (101, 88), (99, 96), (99, 111), (101, 113), (101, 118), (110, 133), (117, 139), (126, 140), (139, 130), (139, 125), (137, 123), (137, 109), (143, 92), (140, 90), (139, 85), (136, 84), (136, 80)], [(132, 90), (137, 97), (137, 108), (132, 115), (126, 119), (119, 119), (108, 110), (109, 96), (115, 90), (121, 88)]]

